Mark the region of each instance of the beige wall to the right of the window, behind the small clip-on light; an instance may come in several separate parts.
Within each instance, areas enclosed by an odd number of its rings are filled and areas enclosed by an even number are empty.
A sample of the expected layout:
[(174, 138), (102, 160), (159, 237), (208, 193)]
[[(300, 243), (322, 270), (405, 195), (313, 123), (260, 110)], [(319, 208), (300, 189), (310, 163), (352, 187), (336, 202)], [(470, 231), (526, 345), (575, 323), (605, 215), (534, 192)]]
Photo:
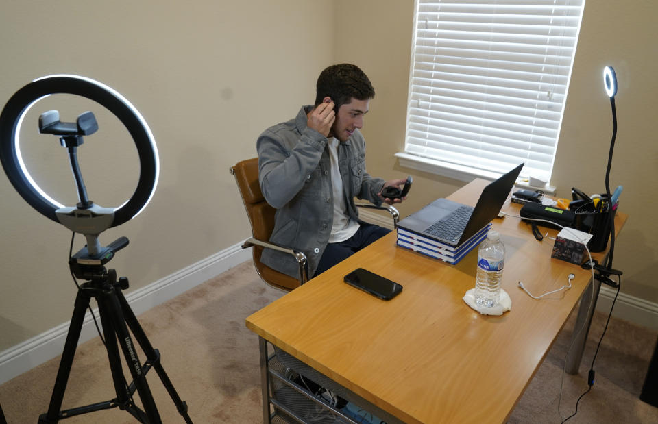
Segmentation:
[(610, 101), (602, 69), (615, 68), (618, 132), (610, 174), (611, 190), (624, 186), (620, 210), (630, 214), (614, 255), (624, 271), (622, 292), (658, 303), (658, 29), (653, 0), (587, 1), (572, 72), (554, 184), (563, 196), (572, 186), (598, 192), (612, 135)]

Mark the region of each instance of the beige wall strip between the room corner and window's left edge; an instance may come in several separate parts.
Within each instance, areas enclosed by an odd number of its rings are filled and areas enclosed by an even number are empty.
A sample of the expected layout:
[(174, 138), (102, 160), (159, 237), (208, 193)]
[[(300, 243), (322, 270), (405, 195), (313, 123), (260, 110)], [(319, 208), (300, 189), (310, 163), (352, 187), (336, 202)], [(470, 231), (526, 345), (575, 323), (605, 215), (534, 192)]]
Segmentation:
[(396, 206), (406, 216), (464, 184), (404, 168), (393, 156), (404, 151), (414, 1), (337, 0), (337, 5), (349, 13), (336, 21), (336, 61), (358, 64), (375, 86), (363, 127), (368, 171), (386, 179), (413, 175), (409, 199)]

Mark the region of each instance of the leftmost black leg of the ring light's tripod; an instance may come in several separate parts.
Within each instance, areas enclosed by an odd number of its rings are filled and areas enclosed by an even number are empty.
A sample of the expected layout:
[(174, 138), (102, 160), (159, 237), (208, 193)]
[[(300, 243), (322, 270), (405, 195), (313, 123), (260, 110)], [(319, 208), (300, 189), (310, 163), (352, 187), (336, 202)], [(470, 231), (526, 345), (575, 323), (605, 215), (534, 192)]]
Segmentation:
[(62, 400), (64, 399), (64, 391), (66, 390), (66, 383), (69, 381), (69, 375), (71, 374), (73, 356), (75, 356), (77, 342), (80, 340), (80, 331), (82, 330), (85, 311), (89, 306), (89, 299), (90, 298), (84, 290), (78, 290), (77, 296), (75, 297), (75, 306), (73, 307), (71, 324), (69, 325), (69, 334), (66, 335), (66, 343), (64, 344), (64, 351), (62, 352), (60, 367), (57, 371), (57, 378), (55, 379), (55, 386), (53, 387), (53, 395), (50, 398), (50, 406), (48, 407), (47, 414), (39, 417), (40, 423), (57, 423), (59, 420)]

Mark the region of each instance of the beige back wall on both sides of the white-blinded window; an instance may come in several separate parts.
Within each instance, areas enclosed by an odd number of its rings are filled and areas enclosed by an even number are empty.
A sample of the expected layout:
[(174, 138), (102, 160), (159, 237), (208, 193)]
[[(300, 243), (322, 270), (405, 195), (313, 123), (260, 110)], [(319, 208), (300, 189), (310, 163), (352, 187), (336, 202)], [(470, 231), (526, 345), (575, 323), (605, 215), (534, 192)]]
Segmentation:
[[(462, 182), (406, 169), (393, 155), (404, 149), (404, 119), (411, 58), (413, 0), (339, 0), (336, 27), (338, 62), (357, 62), (371, 77), (376, 97), (363, 133), (371, 174), (414, 176), (406, 216)], [(385, 6), (384, 6), (385, 4)], [(602, 70), (615, 68), (618, 136), (611, 189), (624, 186), (620, 210), (630, 214), (616, 245), (614, 267), (624, 271), (622, 292), (658, 303), (658, 29), (652, 0), (589, 0), (581, 27), (571, 85), (561, 128), (552, 184), (570, 197), (572, 186), (605, 190), (605, 166), (612, 134), (611, 108), (603, 91)], [(337, 14), (337, 15), (338, 15)]]

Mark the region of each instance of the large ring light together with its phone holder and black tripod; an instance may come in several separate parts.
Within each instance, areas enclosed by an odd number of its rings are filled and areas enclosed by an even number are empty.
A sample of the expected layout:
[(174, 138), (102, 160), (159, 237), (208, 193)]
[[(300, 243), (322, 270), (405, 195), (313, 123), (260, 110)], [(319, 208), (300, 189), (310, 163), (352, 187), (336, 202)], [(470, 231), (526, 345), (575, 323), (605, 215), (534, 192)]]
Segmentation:
[[(55, 93), (80, 95), (105, 106), (119, 118), (134, 139), (140, 162), (140, 176), (132, 197), (119, 208), (101, 208), (88, 199), (80, 166), (77, 163), (77, 147), (82, 145), (83, 136), (94, 134), (98, 129), (92, 112), (84, 112), (78, 116), (75, 123), (62, 123), (56, 110), (41, 114), (39, 119), (39, 132), (59, 136), (62, 147), (66, 147), (69, 153), (69, 162), (80, 200), (75, 207), (64, 207), (54, 201), (39, 188), (25, 169), (19, 147), (23, 119), (34, 103)], [(162, 420), (146, 380), (146, 373), (153, 368), (167, 388), (178, 412), (187, 423), (191, 423), (186, 403), (180, 399), (162, 368), (160, 353), (151, 346), (130, 305), (123, 297), (121, 290), (128, 288), (127, 278), (117, 279), (117, 272), (114, 269), (107, 270), (104, 266), (117, 251), (128, 245), (128, 239), (121, 237), (106, 247), (101, 246), (98, 241), (99, 234), (104, 230), (134, 218), (145, 208), (154, 194), (158, 181), (158, 151), (151, 131), (142, 116), (118, 92), (93, 79), (74, 75), (53, 75), (36, 79), (17, 91), (0, 114), (0, 160), (14, 188), (27, 203), (71, 231), (84, 234), (87, 242), (86, 247), (69, 260), (71, 273), (86, 282), (80, 285), (80, 290), (77, 292), (73, 317), (66, 336), (48, 412), (40, 416), (39, 422), (56, 423), (69, 416), (118, 407), (126, 410), (142, 423), (161, 423)], [(110, 401), (61, 411), (85, 311), (89, 308), (92, 298), (98, 303), (112, 382), (117, 397)], [(144, 365), (141, 365), (137, 357), (129, 329), (147, 356)], [(123, 375), (119, 348), (123, 352), (127, 368), (130, 369), (133, 378), (130, 384), (127, 384)], [(138, 392), (144, 410), (134, 403), (134, 392)]]

